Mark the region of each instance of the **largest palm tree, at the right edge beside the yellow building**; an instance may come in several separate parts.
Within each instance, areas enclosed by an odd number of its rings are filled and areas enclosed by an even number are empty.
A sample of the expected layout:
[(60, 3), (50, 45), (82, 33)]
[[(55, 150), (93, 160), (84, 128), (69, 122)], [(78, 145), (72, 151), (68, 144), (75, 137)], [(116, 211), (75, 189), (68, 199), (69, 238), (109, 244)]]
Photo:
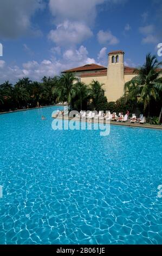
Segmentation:
[(139, 69), (139, 74), (125, 84), (125, 93), (127, 99), (136, 97), (138, 101), (144, 103), (144, 110), (148, 108), (148, 116), (150, 116), (150, 103), (157, 100), (159, 91), (161, 90), (160, 65), (156, 56), (151, 53), (146, 55), (146, 62)]

